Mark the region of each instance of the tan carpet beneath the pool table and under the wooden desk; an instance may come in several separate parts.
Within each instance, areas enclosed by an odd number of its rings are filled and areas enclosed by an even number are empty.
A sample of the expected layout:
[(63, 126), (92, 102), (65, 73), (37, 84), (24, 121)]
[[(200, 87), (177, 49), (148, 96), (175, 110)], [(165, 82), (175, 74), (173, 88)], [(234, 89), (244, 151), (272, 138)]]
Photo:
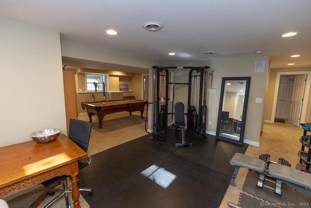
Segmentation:
[[(131, 141), (133, 139), (139, 138), (143, 135), (148, 134), (145, 130), (145, 125), (148, 126), (146, 122), (146, 111), (143, 114), (144, 118), (140, 117), (140, 112), (132, 112), (129, 115), (128, 112), (118, 112), (112, 113), (104, 116), (103, 127), (99, 129), (99, 121), (97, 116), (92, 117), (92, 130), (90, 135), (90, 141), (88, 145), (88, 155), (93, 155), (98, 152), (113, 148), (115, 146), (121, 145), (125, 142)], [(89, 121), (88, 115), (78, 116), (79, 120)], [(68, 181), (70, 184), (70, 181)], [(18, 196), (7, 203), (10, 208), (26, 208), (29, 207), (35, 199), (45, 190), (46, 188), (40, 185), (39, 188), (32, 190), (26, 194)], [(57, 189), (62, 189), (62, 186), (57, 187)], [(56, 189), (56, 190), (57, 190)], [(38, 208), (44, 207), (48, 202), (50, 202), (55, 196), (48, 196)], [(71, 193), (69, 195), (69, 202), (72, 206)], [(80, 194), (80, 206), (81, 208), (89, 208), (83, 196)], [(62, 197), (60, 200), (55, 202), (52, 208), (64, 208), (66, 207), (65, 199)], [(73, 207), (73, 206), (72, 206)]]

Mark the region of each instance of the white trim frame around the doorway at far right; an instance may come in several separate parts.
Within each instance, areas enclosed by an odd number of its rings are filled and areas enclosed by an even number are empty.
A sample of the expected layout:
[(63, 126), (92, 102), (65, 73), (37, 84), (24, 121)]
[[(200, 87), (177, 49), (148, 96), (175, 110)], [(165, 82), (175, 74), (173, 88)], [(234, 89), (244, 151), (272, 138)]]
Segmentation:
[(277, 93), (278, 87), (280, 83), (280, 76), (281, 75), (307, 75), (306, 85), (305, 85), (305, 93), (303, 95), (303, 103), (300, 113), (300, 123), (304, 123), (306, 120), (306, 113), (307, 113), (307, 105), (310, 93), (310, 86), (311, 86), (311, 72), (310, 71), (300, 71), (300, 72), (278, 72), (276, 74), (276, 87), (274, 90), (274, 97), (273, 97), (273, 105), (272, 105), (272, 115), (270, 123), (274, 123), (274, 119), (276, 116), (276, 102), (277, 102)]

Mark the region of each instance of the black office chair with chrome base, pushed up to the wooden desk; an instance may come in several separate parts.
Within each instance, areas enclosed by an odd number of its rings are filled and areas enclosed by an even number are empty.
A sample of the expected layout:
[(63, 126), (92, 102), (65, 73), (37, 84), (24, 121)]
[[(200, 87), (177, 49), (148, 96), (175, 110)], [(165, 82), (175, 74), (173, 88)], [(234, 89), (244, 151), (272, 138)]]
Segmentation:
[[(92, 128), (92, 123), (90, 122), (70, 118), (68, 137), (74, 143), (76, 143), (82, 150), (87, 152), (91, 128)], [(87, 157), (88, 157), (88, 161), (86, 162), (82, 160), (78, 161), (79, 171), (85, 168), (86, 166), (88, 166), (90, 162), (92, 161), (91, 156), (87, 156)], [(68, 177), (69, 175), (57, 176), (55, 178), (52, 178), (48, 181), (41, 183), (43, 186), (47, 187), (48, 190), (42, 193), (39, 196), (39, 198), (30, 206), (30, 208), (36, 208), (46, 198), (48, 194), (53, 195), (55, 192), (52, 191), (52, 189), (55, 189), (55, 187), (60, 185), (61, 183), (63, 184), (63, 191), (58, 196), (56, 196), (54, 199), (52, 199), (52, 201), (49, 204), (47, 204), (45, 208), (51, 206), (56, 200), (58, 200), (62, 196), (65, 196), (66, 207), (70, 208), (68, 194), (72, 192), (72, 190), (68, 189), (68, 185), (67, 185)], [(83, 190), (88, 191), (88, 194), (93, 193), (93, 189), (79, 188), (79, 191), (83, 191)]]

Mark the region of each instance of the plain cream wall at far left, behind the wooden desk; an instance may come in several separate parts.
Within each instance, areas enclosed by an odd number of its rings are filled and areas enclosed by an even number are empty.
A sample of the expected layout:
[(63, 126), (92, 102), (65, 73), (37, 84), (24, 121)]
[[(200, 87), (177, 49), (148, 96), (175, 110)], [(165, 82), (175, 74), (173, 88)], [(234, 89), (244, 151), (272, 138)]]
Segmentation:
[(0, 19), (0, 146), (50, 128), (66, 134), (59, 33)]

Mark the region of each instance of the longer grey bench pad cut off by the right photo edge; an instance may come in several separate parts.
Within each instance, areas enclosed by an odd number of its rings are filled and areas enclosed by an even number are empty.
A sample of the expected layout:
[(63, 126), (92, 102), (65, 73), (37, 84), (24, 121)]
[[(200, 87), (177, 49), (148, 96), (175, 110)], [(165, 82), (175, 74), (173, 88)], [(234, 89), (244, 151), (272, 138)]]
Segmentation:
[(308, 172), (274, 163), (270, 163), (268, 172), (276, 179), (311, 189), (311, 174)]

